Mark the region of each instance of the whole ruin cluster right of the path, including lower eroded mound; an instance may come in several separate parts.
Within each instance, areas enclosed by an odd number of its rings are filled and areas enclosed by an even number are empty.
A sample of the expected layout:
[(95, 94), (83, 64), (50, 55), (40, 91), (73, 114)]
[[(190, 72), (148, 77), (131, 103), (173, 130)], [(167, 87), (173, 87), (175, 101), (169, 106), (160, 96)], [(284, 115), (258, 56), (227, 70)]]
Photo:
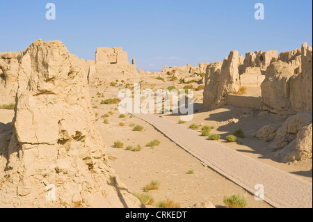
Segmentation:
[[(272, 141), (268, 148), (278, 161), (312, 158), (312, 46), (301, 49), (231, 51), (223, 63), (210, 63), (205, 77), (203, 106), (216, 109), (224, 104), (250, 107), (290, 116), (280, 127), (265, 125), (257, 138)], [(239, 87), (261, 90), (261, 97), (234, 95)]]

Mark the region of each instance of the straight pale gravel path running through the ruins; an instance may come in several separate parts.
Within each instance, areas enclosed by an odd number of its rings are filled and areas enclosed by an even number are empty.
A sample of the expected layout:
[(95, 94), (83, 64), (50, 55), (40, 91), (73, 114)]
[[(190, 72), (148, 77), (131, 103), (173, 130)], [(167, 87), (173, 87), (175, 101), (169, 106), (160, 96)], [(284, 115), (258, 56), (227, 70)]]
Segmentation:
[(262, 184), (264, 200), (273, 207), (312, 208), (311, 182), (252, 159), (217, 141), (209, 141), (186, 125), (150, 114), (134, 116), (150, 123), (181, 148), (250, 193), (256, 192), (256, 184)]

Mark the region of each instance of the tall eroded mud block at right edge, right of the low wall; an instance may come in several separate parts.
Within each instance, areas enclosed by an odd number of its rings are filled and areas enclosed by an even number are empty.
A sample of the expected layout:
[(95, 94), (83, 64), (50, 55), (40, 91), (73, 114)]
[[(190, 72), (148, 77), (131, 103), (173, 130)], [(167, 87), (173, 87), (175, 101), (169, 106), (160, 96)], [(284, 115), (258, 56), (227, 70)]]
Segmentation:
[(280, 56), (282, 61), (272, 63), (266, 70), (261, 85), (264, 109), (273, 113), (312, 111), (312, 47), (307, 43), (302, 46), (300, 73), (294, 65), (298, 65), (298, 51), (286, 54)]

